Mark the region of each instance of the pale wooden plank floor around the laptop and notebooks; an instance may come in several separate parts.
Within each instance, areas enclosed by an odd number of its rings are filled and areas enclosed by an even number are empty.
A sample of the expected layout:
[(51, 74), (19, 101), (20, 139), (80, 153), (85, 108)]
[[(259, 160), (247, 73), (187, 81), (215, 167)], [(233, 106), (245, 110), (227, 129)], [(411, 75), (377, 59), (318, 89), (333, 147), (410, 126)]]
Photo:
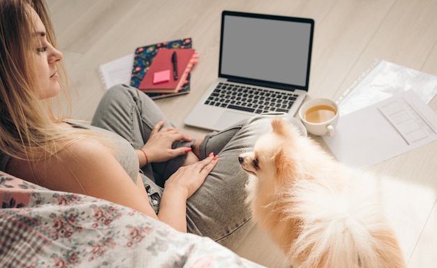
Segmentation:
[[(375, 59), (437, 75), (437, 0), (49, 0), (48, 4), (78, 90), (79, 96), (73, 98), (77, 119), (90, 120), (105, 92), (99, 64), (131, 54), (135, 47), (191, 37), (200, 53), (191, 94), (156, 102), (186, 133), (196, 137), (207, 133), (184, 126), (183, 121), (218, 73), (222, 10), (315, 20), (309, 98), (338, 98)], [(437, 98), (429, 105), (437, 112)], [(437, 267), (437, 142), (368, 170), (396, 178), (388, 194), (408, 214), (397, 222), (397, 229), (409, 267)], [(244, 248), (240, 253), (272, 263)]]

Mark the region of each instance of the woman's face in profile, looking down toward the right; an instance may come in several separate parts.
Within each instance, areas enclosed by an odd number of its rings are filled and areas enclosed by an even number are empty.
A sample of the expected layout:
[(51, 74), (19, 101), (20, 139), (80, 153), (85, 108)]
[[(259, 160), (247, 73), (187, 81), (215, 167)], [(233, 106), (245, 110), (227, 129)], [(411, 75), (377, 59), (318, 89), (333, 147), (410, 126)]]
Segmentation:
[(36, 73), (36, 94), (40, 99), (57, 96), (61, 90), (58, 82), (56, 62), (62, 59), (62, 53), (47, 41), (45, 26), (36, 11), (31, 8), (34, 20), (34, 71)]

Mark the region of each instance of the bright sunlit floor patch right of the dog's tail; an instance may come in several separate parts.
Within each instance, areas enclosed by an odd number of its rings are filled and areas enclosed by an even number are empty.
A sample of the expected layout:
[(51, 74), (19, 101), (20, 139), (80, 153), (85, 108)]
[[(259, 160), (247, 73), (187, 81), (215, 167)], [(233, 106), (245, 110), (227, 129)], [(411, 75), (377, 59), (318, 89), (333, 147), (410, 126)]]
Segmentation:
[[(381, 182), (387, 218), (397, 234), (408, 266), (432, 267), (437, 258), (436, 191), (388, 177)], [(423, 226), (426, 227), (423, 229)]]

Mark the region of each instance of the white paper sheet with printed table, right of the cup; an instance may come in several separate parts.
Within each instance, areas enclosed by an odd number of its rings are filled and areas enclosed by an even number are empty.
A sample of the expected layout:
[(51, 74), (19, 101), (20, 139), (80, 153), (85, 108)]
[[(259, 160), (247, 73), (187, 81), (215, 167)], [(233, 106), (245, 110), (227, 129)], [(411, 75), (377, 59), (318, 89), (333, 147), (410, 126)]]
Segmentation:
[(403, 91), (340, 117), (333, 137), (323, 137), (336, 158), (366, 168), (437, 140), (437, 114)]

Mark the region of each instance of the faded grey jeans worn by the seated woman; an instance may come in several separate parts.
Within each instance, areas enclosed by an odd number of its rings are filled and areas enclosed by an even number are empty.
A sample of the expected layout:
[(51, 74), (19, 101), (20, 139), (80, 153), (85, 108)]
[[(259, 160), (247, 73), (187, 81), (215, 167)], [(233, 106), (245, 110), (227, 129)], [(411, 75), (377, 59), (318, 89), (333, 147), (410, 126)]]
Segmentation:
[[(272, 117), (282, 117), (298, 124), (304, 131), (302, 124), (290, 115), (271, 113), (252, 117), (204, 138), (200, 158), (214, 152), (214, 155), (218, 154), (218, 163), (205, 183), (187, 200), (188, 232), (210, 237), (231, 249), (238, 246), (249, 232), (253, 223), (244, 202), (247, 174), (239, 165), (238, 156), (251, 151), (258, 136), (271, 129)], [(121, 135), (139, 149), (147, 142), (151, 129), (164, 118), (163, 112), (146, 94), (133, 87), (117, 85), (103, 96), (91, 124)], [(171, 126), (168, 120), (165, 126)], [(173, 147), (190, 146), (188, 142), (173, 144)], [(163, 192), (161, 186), (184, 160), (185, 156), (179, 156), (164, 163), (148, 164), (140, 170), (149, 201), (156, 212)]]

